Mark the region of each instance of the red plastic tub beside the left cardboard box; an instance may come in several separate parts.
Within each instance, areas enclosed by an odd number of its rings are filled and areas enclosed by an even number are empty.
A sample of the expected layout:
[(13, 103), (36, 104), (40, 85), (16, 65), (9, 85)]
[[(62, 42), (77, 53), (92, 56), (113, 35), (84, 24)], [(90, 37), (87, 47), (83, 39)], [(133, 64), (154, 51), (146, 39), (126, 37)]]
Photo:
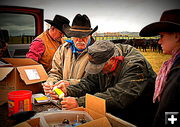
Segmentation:
[(32, 91), (18, 90), (8, 93), (8, 116), (32, 110)]

